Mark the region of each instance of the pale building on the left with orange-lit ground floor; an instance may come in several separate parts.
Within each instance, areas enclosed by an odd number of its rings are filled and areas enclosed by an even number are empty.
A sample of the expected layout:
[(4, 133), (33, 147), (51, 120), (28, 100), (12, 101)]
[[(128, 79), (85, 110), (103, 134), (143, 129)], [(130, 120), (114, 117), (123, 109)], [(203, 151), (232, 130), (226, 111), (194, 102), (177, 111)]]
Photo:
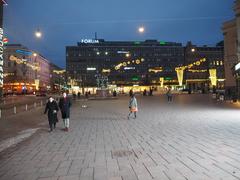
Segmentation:
[(50, 89), (50, 62), (20, 44), (4, 49), (4, 92), (33, 93)]

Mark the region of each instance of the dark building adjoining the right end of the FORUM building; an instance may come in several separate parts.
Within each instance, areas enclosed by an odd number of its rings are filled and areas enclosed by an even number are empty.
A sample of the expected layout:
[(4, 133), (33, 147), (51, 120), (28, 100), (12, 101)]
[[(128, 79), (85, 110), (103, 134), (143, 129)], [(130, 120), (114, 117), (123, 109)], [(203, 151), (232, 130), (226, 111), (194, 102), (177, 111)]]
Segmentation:
[[(201, 60), (205, 61), (200, 62)], [(191, 64), (192, 67), (186, 69), (184, 78), (189, 88), (192, 90), (213, 88), (210, 71), (216, 72), (216, 88), (224, 87), (224, 47), (221, 43), (209, 47), (195, 46), (188, 42), (185, 48), (185, 65)]]

